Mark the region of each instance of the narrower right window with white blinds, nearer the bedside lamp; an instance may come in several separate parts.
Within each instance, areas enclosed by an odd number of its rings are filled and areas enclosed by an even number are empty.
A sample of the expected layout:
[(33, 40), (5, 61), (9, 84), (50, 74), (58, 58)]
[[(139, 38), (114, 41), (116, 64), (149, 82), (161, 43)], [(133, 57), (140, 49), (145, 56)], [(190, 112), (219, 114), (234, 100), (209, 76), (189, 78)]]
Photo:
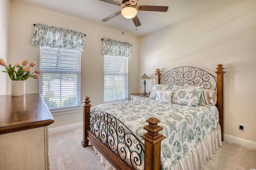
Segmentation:
[(104, 56), (104, 102), (127, 100), (127, 57)]

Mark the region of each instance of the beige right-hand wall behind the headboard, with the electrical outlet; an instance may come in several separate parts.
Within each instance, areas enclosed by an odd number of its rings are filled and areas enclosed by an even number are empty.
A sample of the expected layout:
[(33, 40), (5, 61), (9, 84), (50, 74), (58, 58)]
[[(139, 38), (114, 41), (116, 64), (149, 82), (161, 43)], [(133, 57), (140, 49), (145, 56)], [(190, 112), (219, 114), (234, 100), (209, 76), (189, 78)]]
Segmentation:
[[(241, 0), (140, 37), (140, 75), (196, 66), (225, 74), (224, 133), (256, 142), (256, 1)], [(143, 84), (140, 83), (140, 91)], [(245, 124), (245, 131), (239, 130)]]

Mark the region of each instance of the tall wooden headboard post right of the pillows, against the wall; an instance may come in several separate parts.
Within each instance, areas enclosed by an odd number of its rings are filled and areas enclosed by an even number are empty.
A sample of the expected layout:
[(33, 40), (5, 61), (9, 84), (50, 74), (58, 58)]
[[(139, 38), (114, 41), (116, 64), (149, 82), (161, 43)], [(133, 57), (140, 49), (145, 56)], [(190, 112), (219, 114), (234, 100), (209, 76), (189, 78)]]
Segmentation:
[(218, 64), (217, 73), (217, 108), (219, 111), (219, 123), (221, 127), (222, 141), (224, 141), (224, 73), (223, 65)]

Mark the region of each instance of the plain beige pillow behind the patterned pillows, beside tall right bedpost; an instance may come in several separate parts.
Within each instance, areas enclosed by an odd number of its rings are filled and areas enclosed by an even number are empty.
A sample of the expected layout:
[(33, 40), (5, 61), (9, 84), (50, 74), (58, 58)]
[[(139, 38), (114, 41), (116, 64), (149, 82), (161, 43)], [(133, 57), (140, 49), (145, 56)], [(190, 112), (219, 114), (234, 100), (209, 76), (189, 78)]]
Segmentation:
[[(184, 84), (184, 87), (193, 87), (189, 84)], [(199, 99), (200, 106), (214, 106), (217, 103), (217, 91), (211, 89), (203, 89), (202, 95)]]

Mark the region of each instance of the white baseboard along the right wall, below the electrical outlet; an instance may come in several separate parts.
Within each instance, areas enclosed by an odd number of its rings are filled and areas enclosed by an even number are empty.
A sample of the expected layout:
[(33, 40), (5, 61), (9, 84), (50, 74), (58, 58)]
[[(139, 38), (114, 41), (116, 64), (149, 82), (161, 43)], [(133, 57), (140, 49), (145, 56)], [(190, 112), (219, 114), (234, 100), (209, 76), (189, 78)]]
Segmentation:
[(242, 145), (244, 147), (256, 149), (256, 142), (249, 141), (249, 140), (246, 140), (246, 139), (242, 139), (242, 138), (239, 138), (239, 137), (224, 134), (224, 141), (228, 141), (228, 142), (231, 142), (231, 143), (236, 143), (238, 145)]

